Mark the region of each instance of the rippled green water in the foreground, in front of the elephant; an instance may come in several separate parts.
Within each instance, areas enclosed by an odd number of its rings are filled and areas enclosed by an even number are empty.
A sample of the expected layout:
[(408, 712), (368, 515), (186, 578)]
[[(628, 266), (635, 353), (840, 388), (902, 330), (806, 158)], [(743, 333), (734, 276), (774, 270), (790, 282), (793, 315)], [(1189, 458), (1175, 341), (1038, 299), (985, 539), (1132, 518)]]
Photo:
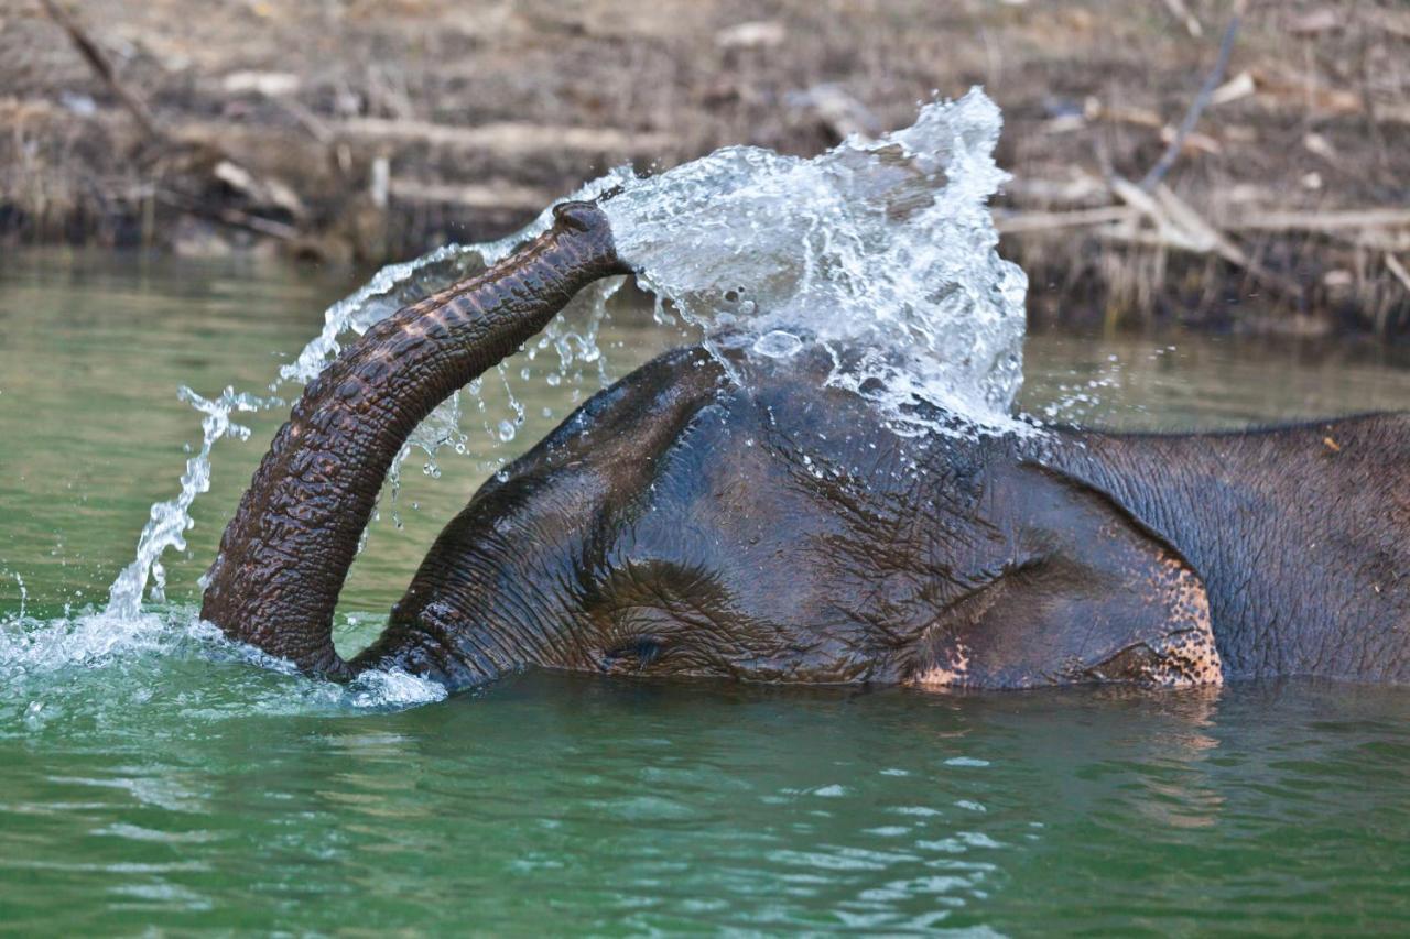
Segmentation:
[(1308, 682), (935, 696), (540, 674), (364, 716), (154, 701), (6, 744), (0, 908), (69, 931), (1387, 925), (1407, 718), (1404, 691)]

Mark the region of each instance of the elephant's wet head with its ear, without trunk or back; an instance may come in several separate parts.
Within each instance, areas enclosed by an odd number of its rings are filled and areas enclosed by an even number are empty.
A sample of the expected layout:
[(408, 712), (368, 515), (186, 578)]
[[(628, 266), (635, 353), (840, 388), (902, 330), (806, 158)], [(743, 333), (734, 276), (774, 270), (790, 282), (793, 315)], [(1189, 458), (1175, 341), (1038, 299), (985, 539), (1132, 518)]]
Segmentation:
[(825, 355), (701, 348), (602, 392), (486, 484), (357, 667), (767, 682), (1220, 680), (1203, 585), (1034, 444), (902, 437)]

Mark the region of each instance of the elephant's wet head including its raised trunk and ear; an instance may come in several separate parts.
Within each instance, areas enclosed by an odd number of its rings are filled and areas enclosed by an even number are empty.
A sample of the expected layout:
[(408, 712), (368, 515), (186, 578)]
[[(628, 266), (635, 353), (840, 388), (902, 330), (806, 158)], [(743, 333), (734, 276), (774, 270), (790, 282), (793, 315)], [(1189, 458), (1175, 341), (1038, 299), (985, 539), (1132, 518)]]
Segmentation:
[[(352, 661), (338, 591), (378, 488), (440, 400), (594, 278), (601, 210), (369, 330), (309, 385), (243, 498), (202, 615), (302, 670), (465, 687), (526, 665), (776, 682), (1218, 680), (1203, 584), (1015, 436), (901, 436), (830, 360), (680, 350), (488, 482)], [(932, 415), (943, 423), (943, 415)]]

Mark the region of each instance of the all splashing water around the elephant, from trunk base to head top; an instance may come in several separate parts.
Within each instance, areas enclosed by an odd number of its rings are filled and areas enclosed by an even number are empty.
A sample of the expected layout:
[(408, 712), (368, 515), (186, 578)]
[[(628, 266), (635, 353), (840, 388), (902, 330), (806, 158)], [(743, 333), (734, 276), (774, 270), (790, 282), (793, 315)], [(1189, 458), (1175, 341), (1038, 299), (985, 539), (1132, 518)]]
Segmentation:
[[(998, 107), (976, 89), (953, 103), (922, 106), (911, 127), (874, 141), (854, 135), (812, 159), (729, 147), (657, 176), (618, 168), (565, 199), (605, 197), (619, 252), (656, 295), (657, 319), (671, 321), (667, 309), (680, 314), (682, 344), (788, 358), (816, 343), (836, 362), (829, 383), (871, 399), (898, 433), (931, 426), (918, 416), (916, 400), (943, 407), (974, 431), (1024, 431), (1031, 424), (1014, 420), (1011, 407), (1022, 381), (1026, 281), (998, 257), (987, 207), (1007, 179), (993, 159), (1000, 127)], [(224, 647), (193, 610), (166, 602), (162, 557), (186, 548), (190, 508), (216, 471), (216, 443), (250, 438), (235, 415), (283, 412), (298, 388), (337, 357), (344, 337), (485, 269), (551, 220), (548, 207), (499, 241), (447, 245), (384, 268), (326, 310), (319, 336), (259, 393), (226, 388), (206, 398), (182, 388), (180, 399), (202, 416), (202, 443), (186, 461), (178, 495), (151, 508), (106, 608), (49, 622), (21, 610), (0, 630), (0, 671)], [(587, 382), (606, 386), (615, 376), (596, 336), (622, 282), (612, 278), (577, 296), (526, 347), (529, 360), (550, 352), (547, 364), (537, 365), (537, 375), (522, 367), (519, 379), (567, 382), (574, 400), (594, 391)], [(424, 454), (426, 472), (437, 475), (446, 447), (470, 451), (475, 423), (498, 462), (508, 460), (523, 406), (503, 364), (491, 381), (503, 383), (508, 412), (486, 407), (479, 381), (462, 392), (472, 406), (453, 395), (398, 455), (389, 477), (393, 501), (413, 450)], [(252, 650), (237, 654), (274, 664)], [(444, 689), (405, 674), (368, 674), (338, 695), (354, 705), (407, 705), (437, 699)]]

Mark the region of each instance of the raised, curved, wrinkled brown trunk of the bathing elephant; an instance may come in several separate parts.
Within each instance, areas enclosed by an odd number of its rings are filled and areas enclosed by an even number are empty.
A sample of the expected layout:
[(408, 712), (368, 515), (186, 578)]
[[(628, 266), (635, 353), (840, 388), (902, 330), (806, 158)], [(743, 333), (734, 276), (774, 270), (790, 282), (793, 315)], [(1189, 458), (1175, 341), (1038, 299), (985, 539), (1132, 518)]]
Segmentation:
[(255, 471), (207, 575), (202, 618), (306, 673), (350, 675), (333, 649), (333, 610), (412, 430), (585, 285), (629, 272), (602, 211), (565, 203), (510, 258), (347, 347), (305, 389)]

